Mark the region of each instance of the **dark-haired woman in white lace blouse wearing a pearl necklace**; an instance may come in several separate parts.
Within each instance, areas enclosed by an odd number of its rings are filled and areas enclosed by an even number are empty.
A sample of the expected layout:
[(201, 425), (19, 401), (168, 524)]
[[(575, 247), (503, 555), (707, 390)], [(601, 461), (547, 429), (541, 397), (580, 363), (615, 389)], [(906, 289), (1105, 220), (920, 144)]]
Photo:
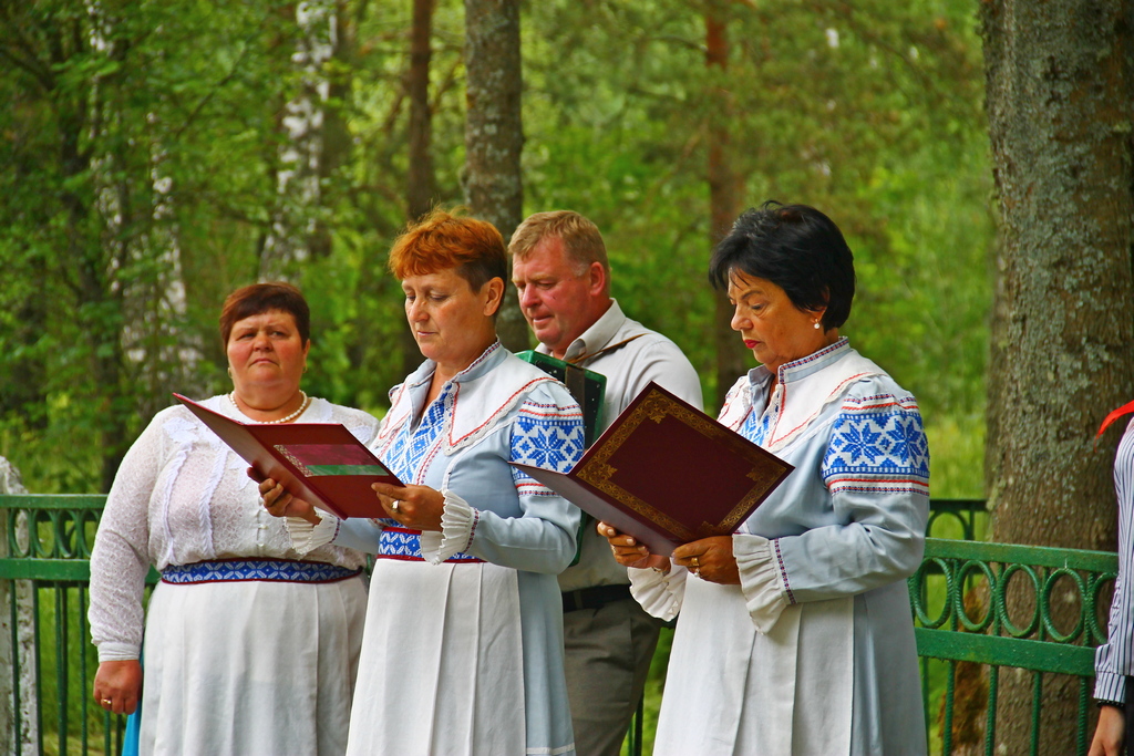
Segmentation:
[[(202, 404), (242, 423), (340, 423), (369, 443), (376, 419), (299, 388), (310, 320), (288, 283), (229, 295), (220, 334), (232, 391)], [(107, 498), (91, 554), (94, 698), (116, 714), (143, 704), (142, 754), (346, 749), (364, 557), (327, 545), (301, 558), (246, 467), (178, 405), (130, 447)], [(143, 621), (151, 566), (162, 580)]]

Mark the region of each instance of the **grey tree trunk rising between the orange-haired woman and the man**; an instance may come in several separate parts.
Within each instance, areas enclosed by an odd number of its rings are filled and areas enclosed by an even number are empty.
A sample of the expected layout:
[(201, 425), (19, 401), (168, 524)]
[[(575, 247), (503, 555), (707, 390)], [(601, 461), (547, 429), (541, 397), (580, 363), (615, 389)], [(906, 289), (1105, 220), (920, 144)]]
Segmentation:
[[(465, 202), (500, 229), (507, 244), (524, 212), (519, 0), (465, 0)], [(526, 349), (527, 325), (515, 288), (506, 283), (500, 340), (509, 349)]]

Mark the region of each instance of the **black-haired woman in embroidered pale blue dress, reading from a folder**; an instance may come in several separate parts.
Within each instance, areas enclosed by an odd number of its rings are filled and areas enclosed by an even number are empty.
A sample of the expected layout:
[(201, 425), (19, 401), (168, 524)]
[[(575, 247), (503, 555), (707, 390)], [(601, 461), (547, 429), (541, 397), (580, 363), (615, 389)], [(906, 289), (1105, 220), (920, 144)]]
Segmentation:
[(720, 421), (795, 470), (736, 534), (672, 560), (599, 525), (642, 605), (680, 611), (654, 754), (924, 754), (905, 579), (929, 450), (914, 398), (839, 334), (850, 249), (818, 210), (765, 203), (709, 277), (760, 363)]

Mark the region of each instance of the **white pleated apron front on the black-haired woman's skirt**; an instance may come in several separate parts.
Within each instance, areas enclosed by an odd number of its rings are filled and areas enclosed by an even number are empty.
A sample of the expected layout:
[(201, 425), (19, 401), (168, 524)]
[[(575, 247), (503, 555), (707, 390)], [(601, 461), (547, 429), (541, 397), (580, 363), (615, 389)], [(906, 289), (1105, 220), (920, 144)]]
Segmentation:
[(739, 586), (686, 580), (654, 756), (850, 753), (854, 598), (756, 631)]

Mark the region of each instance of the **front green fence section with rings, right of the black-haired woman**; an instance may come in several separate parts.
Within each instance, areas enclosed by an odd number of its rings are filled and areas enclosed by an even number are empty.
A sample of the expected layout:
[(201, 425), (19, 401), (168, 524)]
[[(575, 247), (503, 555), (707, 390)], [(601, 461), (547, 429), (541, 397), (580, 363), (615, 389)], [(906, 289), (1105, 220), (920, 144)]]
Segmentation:
[[(1040, 739), (1043, 674), (1080, 678), (1076, 751), (1086, 753), (1094, 647), (1106, 642), (1101, 602), (1117, 571), (1118, 558), (1110, 553), (926, 540), (909, 594), (926, 722), (937, 711), (931, 704), (943, 711), (942, 754), (953, 751), (957, 666), (963, 663), (987, 665), (980, 672), (987, 676), (984, 753), (995, 750), (999, 670), (1005, 666), (1033, 676), (1033, 746)], [(941, 611), (931, 612), (928, 603), (940, 602), (942, 593)], [(1057, 603), (1060, 611), (1055, 611)], [(946, 668), (943, 700), (931, 702), (929, 680), (940, 673), (931, 671), (930, 660), (941, 660)]]

